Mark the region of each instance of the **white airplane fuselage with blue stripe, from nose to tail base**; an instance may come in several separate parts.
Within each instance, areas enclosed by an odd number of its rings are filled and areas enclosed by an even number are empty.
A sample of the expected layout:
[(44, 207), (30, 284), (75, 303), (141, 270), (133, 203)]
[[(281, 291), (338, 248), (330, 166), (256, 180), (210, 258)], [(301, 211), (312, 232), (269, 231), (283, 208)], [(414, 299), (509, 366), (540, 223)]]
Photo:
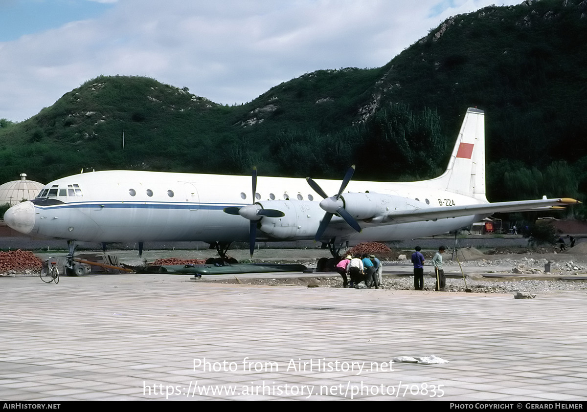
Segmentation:
[[(329, 195), (336, 194), (340, 187), (340, 181), (316, 182)], [(483, 203), (440, 191), (427, 182), (351, 181), (345, 193), (365, 194), (366, 203), (383, 212)], [(259, 177), (257, 198), (252, 200), (251, 177), (247, 176), (101, 171), (53, 181), (41, 195), (11, 210), (9, 225), (31, 235), (75, 241), (247, 241), (250, 221), (223, 210), (257, 202), (285, 214), (283, 218), (261, 218), (257, 238), (282, 241), (313, 239), (325, 213), (319, 207), (322, 198), (301, 178)], [(468, 215), (378, 225), (356, 216), (362, 227), (360, 233), (335, 216), (323, 238), (409, 239), (454, 231), (483, 218)]]

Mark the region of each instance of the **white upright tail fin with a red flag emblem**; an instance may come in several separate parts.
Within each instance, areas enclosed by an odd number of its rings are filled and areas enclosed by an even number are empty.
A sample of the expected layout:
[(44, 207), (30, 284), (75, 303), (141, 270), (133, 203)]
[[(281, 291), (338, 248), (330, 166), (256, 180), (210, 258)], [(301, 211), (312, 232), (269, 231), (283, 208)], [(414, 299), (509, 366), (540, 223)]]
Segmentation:
[(469, 107), (446, 171), (428, 181), (438, 189), (487, 201), (485, 197), (485, 112)]

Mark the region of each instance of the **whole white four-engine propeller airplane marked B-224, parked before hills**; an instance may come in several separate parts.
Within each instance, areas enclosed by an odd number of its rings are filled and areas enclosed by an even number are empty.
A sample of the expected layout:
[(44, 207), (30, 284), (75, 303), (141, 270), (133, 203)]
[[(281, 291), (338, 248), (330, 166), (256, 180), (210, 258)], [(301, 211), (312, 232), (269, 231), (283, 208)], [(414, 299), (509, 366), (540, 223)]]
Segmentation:
[[(76, 242), (230, 242), (315, 239), (392, 241), (468, 227), (495, 212), (579, 203), (571, 198), (490, 203), (485, 197), (484, 111), (467, 109), (446, 171), (415, 182), (251, 177), (133, 170), (92, 171), (52, 181), (38, 197), (11, 207), (9, 227)], [(252, 188), (249, 192), (248, 188)], [(73, 267), (73, 264), (71, 265)]]

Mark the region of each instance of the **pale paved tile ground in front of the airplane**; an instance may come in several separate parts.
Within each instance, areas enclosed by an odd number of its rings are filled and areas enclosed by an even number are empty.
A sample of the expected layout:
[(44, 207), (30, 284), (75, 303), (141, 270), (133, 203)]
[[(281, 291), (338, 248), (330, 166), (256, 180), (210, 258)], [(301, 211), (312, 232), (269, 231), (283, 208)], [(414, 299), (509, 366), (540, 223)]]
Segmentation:
[[(585, 292), (1, 278), (0, 399), (585, 400)], [(446, 364), (393, 363), (435, 354)], [(362, 368), (359, 369), (359, 368)]]

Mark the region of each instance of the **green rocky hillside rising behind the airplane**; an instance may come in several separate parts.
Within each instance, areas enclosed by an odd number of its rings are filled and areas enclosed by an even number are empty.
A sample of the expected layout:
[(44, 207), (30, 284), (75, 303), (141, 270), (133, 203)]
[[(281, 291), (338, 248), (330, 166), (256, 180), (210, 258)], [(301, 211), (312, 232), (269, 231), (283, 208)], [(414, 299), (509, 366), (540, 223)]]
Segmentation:
[[(376, 69), (319, 70), (239, 106), (154, 79), (100, 76), (17, 124), (0, 181), (81, 168), (429, 178), (467, 107), (486, 110), (490, 200), (587, 192), (587, 3), (525, 1), (454, 16)], [(122, 147), (124, 135), (124, 148)], [(26, 164), (26, 166), (23, 166)]]

